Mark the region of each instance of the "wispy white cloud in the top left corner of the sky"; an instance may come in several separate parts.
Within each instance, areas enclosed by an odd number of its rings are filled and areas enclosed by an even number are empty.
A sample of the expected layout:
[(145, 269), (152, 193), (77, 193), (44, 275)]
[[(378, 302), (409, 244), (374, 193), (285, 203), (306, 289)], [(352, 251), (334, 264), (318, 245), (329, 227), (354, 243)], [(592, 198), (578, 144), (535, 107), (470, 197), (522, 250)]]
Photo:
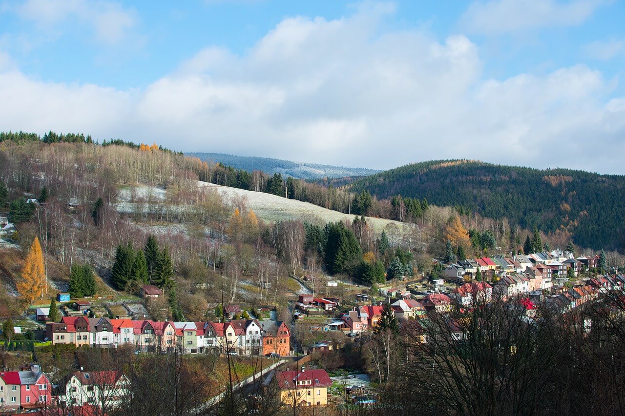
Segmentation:
[(111, 45), (125, 39), (137, 21), (133, 9), (110, 1), (26, 0), (14, 10), (46, 31), (58, 32), (61, 23), (87, 25), (96, 40)]

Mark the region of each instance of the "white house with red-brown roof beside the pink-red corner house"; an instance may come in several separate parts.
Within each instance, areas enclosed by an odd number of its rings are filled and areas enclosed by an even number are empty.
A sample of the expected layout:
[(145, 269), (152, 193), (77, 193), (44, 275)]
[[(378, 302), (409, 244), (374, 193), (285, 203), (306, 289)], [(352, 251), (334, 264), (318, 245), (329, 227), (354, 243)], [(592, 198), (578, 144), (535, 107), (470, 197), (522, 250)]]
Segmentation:
[(129, 394), (129, 385), (130, 380), (121, 371), (79, 371), (61, 381), (57, 397), (68, 406), (116, 409)]

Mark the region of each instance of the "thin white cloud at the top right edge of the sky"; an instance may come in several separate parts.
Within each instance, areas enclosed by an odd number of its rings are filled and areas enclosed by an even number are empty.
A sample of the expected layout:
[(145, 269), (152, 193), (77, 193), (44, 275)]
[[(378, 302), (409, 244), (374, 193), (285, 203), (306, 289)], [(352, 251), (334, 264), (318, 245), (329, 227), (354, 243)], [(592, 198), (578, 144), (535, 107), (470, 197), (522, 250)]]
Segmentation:
[(461, 27), (478, 34), (501, 34), (539, 27), (576, 26), (586, 21), (602, 0), (490, 0), (471, 4)]

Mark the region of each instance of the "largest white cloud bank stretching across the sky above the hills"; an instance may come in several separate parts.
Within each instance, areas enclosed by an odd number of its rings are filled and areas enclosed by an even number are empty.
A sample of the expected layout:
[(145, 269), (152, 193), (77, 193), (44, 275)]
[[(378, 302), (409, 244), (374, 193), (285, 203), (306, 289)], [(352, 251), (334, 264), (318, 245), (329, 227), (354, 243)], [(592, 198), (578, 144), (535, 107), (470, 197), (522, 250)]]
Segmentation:
[[(183, 151), (390, 168), (466, 157), (625, 173), (625, 97), (601, 72), (484, 79), (465, 36), (379, 32), (388, 11), (289, 17), (249, 51), (209, 47), (141, 91), (0, 69), (0, 125)], [(592, 149), (589, 152), (588, 149)]]

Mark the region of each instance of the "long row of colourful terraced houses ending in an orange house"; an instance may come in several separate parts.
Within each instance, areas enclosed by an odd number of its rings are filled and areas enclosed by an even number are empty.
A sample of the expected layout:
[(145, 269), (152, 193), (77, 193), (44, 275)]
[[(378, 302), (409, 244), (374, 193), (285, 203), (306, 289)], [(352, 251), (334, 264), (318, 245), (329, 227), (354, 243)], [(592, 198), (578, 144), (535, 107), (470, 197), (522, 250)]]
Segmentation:
[(171, 322), (63, 317), (46, 324), (53, 344), (77, 347), (133, 345), (139, 352), (182, 354), (290, 355), (291, 333), (282, 321), (233, 319), (229, 322)]

